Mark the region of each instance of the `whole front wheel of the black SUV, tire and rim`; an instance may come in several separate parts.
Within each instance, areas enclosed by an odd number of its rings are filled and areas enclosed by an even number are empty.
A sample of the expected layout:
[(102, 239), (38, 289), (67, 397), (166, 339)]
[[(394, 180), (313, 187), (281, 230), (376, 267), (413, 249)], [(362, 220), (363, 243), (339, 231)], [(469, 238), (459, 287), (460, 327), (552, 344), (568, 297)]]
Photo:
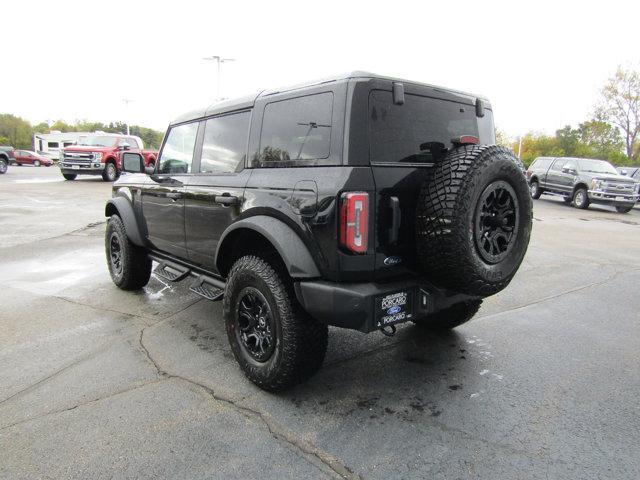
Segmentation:
[(151, 259), (144, 248), (129, 240), (118, 215), (107, 222), (105, 253), (111, 280), (122, 290), (139, 290), (149, 283)]

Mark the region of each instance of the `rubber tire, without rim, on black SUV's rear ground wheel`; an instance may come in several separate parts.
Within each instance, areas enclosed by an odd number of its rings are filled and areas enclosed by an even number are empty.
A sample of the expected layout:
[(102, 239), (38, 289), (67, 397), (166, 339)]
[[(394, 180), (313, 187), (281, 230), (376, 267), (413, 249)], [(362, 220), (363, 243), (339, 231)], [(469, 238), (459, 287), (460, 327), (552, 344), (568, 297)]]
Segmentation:
[(229, 272), (222, 307), (229, 341), (236, 342), (229, 322), (232, 320), (233, 292), (242, 288), (241, 272), (251, 271), (266, 284), (268, 292), (263, 294), (267, 298), (271, 294), (279, 310), (277, 314), (282, 329), (279, 366), (272, 371), (272, 375), (265, 378), (256, 375), (255, 368), (247, 365), (235, 350), (234, 355), (249, 380), (272, 392), (291, 388), (314, 375), (322, 366), (328, 342), (327, 325), (302, 309), (295, 297), (292, 282), (286, 274), (279, 274), (276, 269), (277, 267), (255, 255), (237, 260)]

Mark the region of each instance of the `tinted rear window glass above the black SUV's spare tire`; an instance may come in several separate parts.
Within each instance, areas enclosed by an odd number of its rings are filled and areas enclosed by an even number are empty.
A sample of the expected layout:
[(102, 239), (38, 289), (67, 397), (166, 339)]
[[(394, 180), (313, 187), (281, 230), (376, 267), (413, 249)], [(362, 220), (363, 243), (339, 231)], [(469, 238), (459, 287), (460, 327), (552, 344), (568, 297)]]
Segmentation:
[(395, 105), (392, 93), (382, 90), (369, 96), (372, 163), (433, 162), (463, 135), (495, 143), (491, 111), (478, 118), (473, 105), (410, 94), (403, 105)]

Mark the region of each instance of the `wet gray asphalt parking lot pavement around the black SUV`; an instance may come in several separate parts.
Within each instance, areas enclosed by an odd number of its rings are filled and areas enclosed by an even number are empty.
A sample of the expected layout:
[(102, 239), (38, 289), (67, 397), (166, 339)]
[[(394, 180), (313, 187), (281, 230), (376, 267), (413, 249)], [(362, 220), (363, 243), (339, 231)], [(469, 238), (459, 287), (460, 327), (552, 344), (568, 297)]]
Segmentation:
[(331, 329), (248, 382), (219, 303), (110, 280), (99, 178), (0, 175), (0, 478), (640, 478), (640, 210), (534, 201), (512, 284), (446, 334)]

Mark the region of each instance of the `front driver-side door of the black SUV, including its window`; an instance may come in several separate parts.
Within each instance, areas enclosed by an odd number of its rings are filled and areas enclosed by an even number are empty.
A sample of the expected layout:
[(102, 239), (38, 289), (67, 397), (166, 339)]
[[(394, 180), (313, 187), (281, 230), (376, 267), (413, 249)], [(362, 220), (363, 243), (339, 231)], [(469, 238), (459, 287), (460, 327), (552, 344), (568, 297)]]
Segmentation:
[(142, 188), (147, 238), (157, 250), (186, 259), (184, 198), (191, 178), (198, 122), (172, 127), (156, 172)]

